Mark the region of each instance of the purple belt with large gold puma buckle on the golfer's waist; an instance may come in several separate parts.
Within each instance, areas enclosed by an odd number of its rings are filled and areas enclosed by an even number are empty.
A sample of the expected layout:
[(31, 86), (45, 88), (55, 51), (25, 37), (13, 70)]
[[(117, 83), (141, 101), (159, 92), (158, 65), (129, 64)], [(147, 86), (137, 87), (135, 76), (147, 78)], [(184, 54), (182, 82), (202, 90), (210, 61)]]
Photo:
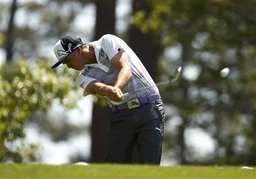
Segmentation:
[(146, 96), (146, 97), (140, 97), (138, 99), (133, 99), (130, 101), (127, 101), (126, 103), (120, 104), (120, 105), (114, 105), (112, 109), (114, 111), (117, 110), (122, 110), (122, 109), (131, 109), (131, 108), (136, 108), (140, 105), (151, 103), (152, 101), (156, 101), (160, 99), (159, 94), (154, 94), (151, 96)]

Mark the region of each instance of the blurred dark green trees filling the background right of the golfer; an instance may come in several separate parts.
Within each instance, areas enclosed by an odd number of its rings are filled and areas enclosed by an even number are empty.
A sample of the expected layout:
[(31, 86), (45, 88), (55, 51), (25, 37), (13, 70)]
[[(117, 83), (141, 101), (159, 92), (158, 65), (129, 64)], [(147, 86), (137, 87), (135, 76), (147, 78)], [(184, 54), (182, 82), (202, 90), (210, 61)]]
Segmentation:
[[(164, 138), (171, 156), (181, 164), (255, 165), (255, 1), (149, 2), (154, 10), (148, 16), (137, 12), (135, 24), (143, 32), (154, 31), (163, 45), (182, 49), (171, 65), (161, 61), (160, 70), (162, 78), (170, 78), (177, 65), (185, 72), (179, 86), (161, 89), (164, 102), (177, 110), (170, 122), (177, 116), (182, 121)], [(219, 74), (224, 67), (231, 70), (225, 79)], [(191, 68), (194, 74), (188, 73)], [(214, 155), (193, 157), (197, 151), (184, 139), (191, 127), (216, 140)]]

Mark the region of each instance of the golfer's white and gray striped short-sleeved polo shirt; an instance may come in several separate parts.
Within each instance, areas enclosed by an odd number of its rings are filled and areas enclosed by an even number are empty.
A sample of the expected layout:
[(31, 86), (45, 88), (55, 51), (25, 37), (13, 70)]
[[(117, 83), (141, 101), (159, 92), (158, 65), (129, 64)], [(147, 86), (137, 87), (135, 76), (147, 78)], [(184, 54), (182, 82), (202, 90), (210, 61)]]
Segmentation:
[[(84, 90), (85, 95), (89, 95), (86, 93), (85, 88), (93, 80), (100, 80), (106, 85), (114, 86), (119, 71), (115, 69), (111, 59), (118, 53), (118, 49), (123, 49), (127, 53), (128, 61), (133, 73), (131, 80), (127, 83), (126, 87), (123, 88), (123, 93), (133, 92), (142, 87), (155, 85), (150, 74), (148, 74), (137, 55), (126, 42), (119, 37), (108, 34), (102, 36), (98, 41), (93, 41), (89, 44), (94, 48), (97, 63), (85, 65), (84, 69), (82, 69), (77, 77), (77, 84)], [(157, 87), (147, 88), (146, 90), (127, 97), (121, 104), (132, 99), (154, 95), (155, 93), (159, 93)], [(109, 106), (112, 107), (113, 104), (110, 103), (110, 99), (108, 97), (106, 97), (106, 99), (108, 100)]]

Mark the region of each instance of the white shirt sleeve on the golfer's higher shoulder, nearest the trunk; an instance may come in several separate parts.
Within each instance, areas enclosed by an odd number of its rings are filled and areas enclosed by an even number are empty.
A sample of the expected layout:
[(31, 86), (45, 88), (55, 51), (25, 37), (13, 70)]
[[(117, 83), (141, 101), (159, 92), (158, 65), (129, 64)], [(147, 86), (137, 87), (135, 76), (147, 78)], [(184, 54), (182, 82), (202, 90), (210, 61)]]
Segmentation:
[(108, 55), (110, 61), (118, 53), (118, 49), (123, 48), (123, 41), (114, 35), (104, 35), (101, 39), (101, 47)]

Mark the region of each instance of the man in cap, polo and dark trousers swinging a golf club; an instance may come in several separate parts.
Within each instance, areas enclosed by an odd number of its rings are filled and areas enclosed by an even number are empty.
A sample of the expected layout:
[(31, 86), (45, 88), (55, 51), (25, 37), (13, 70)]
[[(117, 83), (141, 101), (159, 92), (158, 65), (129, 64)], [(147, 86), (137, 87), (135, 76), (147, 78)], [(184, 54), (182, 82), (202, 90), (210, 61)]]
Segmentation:
[[(57, 41), (54, 52), (57, 62), (52, 69), (62, 63), (81, 70), (77, 83), (84, 90), (84, 96), (105, 96), (113, 109), (106, 135), (106, 163), (131, 163), (133, 147), (137, 144), (139, 163), (159, 165), (164, 130), (163, 103), (157, 87), (123, 99), (123, 93), (155, 84), (126, 42), (109, 34), (88, 44), (78, 36), (64, 36)], [(116, 105), (112, 101), (121, 103)]]

